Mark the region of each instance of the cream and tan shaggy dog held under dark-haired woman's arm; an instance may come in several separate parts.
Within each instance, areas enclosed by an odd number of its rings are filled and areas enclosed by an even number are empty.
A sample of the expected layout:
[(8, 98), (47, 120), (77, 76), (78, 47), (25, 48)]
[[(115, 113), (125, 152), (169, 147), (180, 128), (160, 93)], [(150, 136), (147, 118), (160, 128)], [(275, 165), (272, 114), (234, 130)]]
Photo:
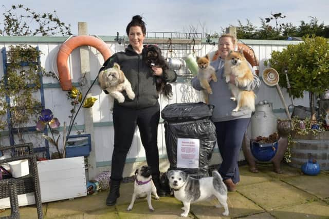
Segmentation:
[(124, 102), (124, 96), (121, 93), (123, 90), (126, 91), (127, 96), (130, 99), (135, 98), (132, 85), (124, 76), (123, 71), (120, 69), (120, 65), (117, 63), (114, 63), (112, 68), (108, 68), (99, 72), (98, 83), (103, 90), (106, 90), (109, 95), (116, 98), (119, 103)]

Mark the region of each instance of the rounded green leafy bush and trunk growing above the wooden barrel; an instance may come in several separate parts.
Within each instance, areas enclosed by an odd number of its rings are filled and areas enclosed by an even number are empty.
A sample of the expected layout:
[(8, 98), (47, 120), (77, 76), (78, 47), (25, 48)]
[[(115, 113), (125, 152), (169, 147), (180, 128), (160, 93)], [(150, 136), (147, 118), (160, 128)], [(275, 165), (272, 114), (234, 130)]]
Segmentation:
[(282, 51), (273, 51), (271, 58), (265, 61), (275, 68), (281, 78), (279, 85), (288, 90), (293, 98), (309, 92), (309, 104), (314, 114), (314, 96), (322, 95), (329, 87), (329, 42), (327, 38), (304, 37), (297, 45), (288, 45)]

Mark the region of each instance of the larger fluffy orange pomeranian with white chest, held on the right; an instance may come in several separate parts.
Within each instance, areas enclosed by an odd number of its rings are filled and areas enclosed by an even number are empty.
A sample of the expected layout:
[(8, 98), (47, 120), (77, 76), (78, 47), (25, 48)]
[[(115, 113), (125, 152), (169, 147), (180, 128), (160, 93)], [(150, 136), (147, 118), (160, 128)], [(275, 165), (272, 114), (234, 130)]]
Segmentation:
[[(235, 75), (235, 85), (229, 83), (230, 74)], [(248, 107), (252, 112), (255, 111), (255, 94), (253, 91), (242, 90), (239, 87), (246, 87), (253, 81), (253, 75), (248, 65), (248, 61), (243, 55), (243, 51), (230, 51), (225, 59), (224, 75), (226, 83), (232, 91), (232, 101), (236, 101), (234, 112), (239, 111), (241, 107)]]

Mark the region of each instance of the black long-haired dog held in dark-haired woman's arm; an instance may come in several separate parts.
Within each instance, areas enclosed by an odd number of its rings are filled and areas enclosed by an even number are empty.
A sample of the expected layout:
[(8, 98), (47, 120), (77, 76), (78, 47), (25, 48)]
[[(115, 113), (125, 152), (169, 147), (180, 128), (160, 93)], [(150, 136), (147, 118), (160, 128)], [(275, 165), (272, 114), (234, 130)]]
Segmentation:
[(164, 75), (167, 74), (169, 67), (165, 58), (161, 55), (161, 50), (155, 45), (147, 45), (143, 49), (143, 61), (152, 66), (160, 66), (162, 68), (162, 76), (155, 75), (155, 86), (158, 93), (163, 94), (167, 99), (170, 99), (173, 95), (171, 85), (166, 82)]

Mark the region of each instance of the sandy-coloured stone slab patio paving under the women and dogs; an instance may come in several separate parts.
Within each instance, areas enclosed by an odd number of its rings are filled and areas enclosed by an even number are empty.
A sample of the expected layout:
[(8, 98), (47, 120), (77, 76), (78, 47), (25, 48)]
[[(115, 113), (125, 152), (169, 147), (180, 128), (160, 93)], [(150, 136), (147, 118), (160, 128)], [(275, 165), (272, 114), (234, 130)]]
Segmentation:
[[(215, 201), (191, 205), (188, 218), (329, 218), (329, 171), (317, 176), (301, 174), (297, 168), (283, 165), (284, 173), (272, 172), (271, 165), (259, 165), (259, 173), (251, 173), (248, 166), (241, 166), (241, 182), (237, 191), (228, 193), (229, 216), (223, 216), (223, 208), (215, 208)], [(150, 212), (147, 200), (136, 200), (132, 211), (126, 208), (131, 201), (133, 184), (120, 188), (116, 206), (105, 205), (107, 191), (93, 195), (43, 204), (45, 218), (181, 218), (182, 204), (174, 197), (152, 200), (155, 209)], [(21, 218), (38, 218), (34, 206), (20, 208)], [(10, 209), (0, 213), (9, 215)]]

